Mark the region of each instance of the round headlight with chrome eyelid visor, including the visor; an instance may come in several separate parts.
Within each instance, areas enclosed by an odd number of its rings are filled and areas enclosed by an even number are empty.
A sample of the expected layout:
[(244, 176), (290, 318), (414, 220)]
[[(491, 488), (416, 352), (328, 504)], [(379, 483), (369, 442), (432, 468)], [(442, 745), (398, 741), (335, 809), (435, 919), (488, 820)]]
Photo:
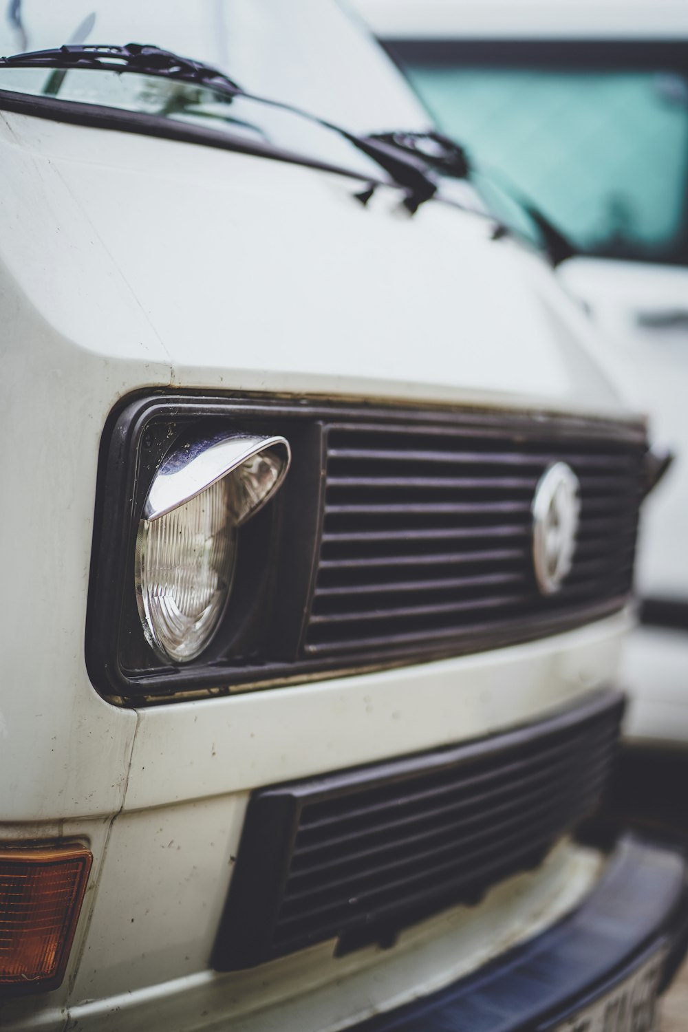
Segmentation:
[(136, 540), (145, 636), (174, 663), (212, 638), (232, 585), (237, 527), (271, 497), (290, 462), (284, 438), (219, 436), (175, 448), (158, 470)]

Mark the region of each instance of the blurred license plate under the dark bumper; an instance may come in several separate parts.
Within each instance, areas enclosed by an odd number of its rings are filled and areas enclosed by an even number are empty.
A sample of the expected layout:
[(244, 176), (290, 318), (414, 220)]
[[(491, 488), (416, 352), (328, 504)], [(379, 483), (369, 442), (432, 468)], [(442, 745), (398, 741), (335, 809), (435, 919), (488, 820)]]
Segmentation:
[(619, 986), (551, 1032), (656, 1032), (663, 962), (664, 950), (654, 954)]

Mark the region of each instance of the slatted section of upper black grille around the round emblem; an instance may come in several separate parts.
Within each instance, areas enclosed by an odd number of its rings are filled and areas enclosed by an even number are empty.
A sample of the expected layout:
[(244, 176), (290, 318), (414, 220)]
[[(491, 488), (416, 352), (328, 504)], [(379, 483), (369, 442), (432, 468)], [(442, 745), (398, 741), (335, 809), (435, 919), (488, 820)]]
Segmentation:
[[(331, 426), (307, 655), (504, 643), (528, 624), (575, 625), (631, 588), (636, 443), (476, 427)], [(575, 563), (544, 599), (531, 556), (533, 493), (565, 461), (581, 483)], [(591, 613), (591, 609), (596, 613)]]

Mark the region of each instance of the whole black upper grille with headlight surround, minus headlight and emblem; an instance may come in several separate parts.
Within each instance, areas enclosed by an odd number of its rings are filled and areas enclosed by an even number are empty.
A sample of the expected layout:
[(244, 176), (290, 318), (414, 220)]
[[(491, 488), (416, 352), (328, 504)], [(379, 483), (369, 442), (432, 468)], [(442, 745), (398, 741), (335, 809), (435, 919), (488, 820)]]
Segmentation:
[[(652, 473), (637, 420), (542, 412), (236, 399), (123, 402), (103, 434), (87, 627), (110, 701), (183, 702), (500, 648), (600, 619), (628, 602)], [(187, 437), (284, 434), (292, 463), (240, 527), (226, 611), (188, 664), (151, 648), (132, 571), (152, 478)], [(535, 584), (531, 506), (563, 460), (582, 485), (574, 569)]]

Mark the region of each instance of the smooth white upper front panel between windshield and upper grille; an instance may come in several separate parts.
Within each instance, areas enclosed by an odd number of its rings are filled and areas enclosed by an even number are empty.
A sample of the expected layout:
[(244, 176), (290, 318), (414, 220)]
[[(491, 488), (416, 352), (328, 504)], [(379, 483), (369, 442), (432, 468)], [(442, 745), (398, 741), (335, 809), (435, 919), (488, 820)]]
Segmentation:
[(152, 382), (620, 412), (535, 255), (439, 203), (197, 144), (0, 114), (2, 276)]

